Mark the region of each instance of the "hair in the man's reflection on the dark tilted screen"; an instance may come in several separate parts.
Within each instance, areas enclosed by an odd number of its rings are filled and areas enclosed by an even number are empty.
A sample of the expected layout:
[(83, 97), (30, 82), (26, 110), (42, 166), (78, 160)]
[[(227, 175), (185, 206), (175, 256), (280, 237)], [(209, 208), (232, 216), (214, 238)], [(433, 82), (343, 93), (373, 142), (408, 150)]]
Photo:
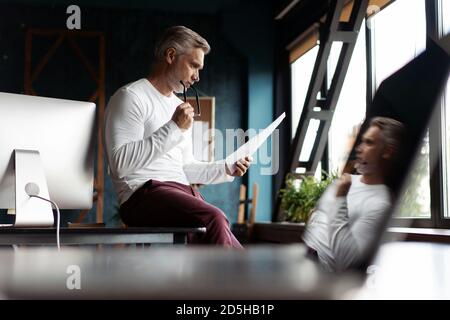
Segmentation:
[(369, 127), (378, 127), (381, 138), (386, 145), (393, 146), (397, 152), (405, 143), (406, 129), (403, 123), (387, 117), (375, 117), (370, 121)]

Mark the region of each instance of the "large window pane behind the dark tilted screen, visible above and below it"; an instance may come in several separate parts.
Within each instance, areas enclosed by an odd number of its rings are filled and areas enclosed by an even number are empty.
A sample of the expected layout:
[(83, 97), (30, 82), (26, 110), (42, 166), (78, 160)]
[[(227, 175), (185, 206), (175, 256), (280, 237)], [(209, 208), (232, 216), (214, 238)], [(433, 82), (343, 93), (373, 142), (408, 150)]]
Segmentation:
[[(375, 15), (370, 24), (375, 88), (425, 50), (425, 0), (398, 0)], [(397, 215), (430, 218), (428, 136), (409, 176)]]

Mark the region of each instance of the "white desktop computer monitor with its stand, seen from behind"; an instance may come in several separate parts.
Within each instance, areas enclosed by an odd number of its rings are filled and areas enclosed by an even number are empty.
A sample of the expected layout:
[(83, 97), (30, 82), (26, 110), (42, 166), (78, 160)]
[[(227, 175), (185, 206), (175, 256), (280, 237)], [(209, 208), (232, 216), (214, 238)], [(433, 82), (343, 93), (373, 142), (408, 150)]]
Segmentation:
[(92, 207), (94, 134), (94, 103), (0, 92), (0, 208), (14, 226), (53, 226), (30, 188), (61, 209)]

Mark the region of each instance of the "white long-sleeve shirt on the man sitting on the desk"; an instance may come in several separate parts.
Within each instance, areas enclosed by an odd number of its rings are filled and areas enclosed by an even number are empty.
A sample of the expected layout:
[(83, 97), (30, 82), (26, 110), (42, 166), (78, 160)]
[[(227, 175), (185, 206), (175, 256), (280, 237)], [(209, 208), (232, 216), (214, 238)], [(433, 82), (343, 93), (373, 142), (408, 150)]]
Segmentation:
[(232, 181), (223, 161), (201, 162), (192, 154), (192, 126), (182, 131), (171, 120), (176, 95), (161, 94), (147, 79), (111, 97), (105, 117), (105, 148), (119, 202), (150, 179), (182, 184)]

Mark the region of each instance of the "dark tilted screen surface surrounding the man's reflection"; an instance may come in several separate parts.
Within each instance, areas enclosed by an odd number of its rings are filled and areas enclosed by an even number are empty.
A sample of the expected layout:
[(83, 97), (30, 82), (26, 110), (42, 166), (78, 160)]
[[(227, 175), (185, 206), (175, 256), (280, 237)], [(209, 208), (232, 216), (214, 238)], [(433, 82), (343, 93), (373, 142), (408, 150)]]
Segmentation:
[[(355, 159), (356, 146), (374, 117), (389, 117), (405, 125), (407, 139), (401, 146), (400, 160), (391, 171), (387, 184), (393, 194), (392, 208), (382, 228), (377, 230), (376, 240), (367, 253), (366, 267), (376, 256), (392, 214), (399, 205), (401, 195), (406, 188), (408, 176), (412, 173), (414, 160), (420, 151), (423, 138), (431, 119), (438, 111), (439, 99), (444, 92), (450, 71), (450, 35), (442, 39), (427, 39), (427, 49), (397, 72), (385, 79), (369, 106), (366, 120), (361, 126), (351, 152), (347, 168)], [(435, 151), (436, 152), (436, 151)], [(430, 157), (430, 172), (436, 165), (437, 156)], [(365, 270), (365, 269), (364, 269)]]

